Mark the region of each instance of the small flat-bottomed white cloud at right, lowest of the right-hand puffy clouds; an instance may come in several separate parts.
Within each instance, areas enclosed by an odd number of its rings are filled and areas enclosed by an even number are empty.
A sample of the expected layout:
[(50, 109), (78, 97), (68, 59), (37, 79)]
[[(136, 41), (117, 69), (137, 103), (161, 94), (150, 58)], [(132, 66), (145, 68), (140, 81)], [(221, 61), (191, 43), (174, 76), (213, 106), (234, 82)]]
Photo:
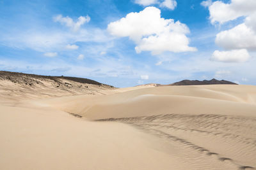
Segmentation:
[(250, 59), (250, 55), (246, 49), (223, 52), (216, 50), (211, 57), (211, 60), (220, 62), (246, 62), (248, 59)]

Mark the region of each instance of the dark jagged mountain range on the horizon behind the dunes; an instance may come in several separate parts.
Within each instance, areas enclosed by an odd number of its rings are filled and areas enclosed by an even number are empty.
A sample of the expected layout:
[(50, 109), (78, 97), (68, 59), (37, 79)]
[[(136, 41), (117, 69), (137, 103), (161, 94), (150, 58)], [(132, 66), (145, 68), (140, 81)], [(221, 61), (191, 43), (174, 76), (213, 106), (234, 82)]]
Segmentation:
[(212, 80), (182, 80), (176, 83), (172, 83), (170, 85), (237, 85), (237, 83), (233, 83), (227, 80), (216, 80), (212, 78)]

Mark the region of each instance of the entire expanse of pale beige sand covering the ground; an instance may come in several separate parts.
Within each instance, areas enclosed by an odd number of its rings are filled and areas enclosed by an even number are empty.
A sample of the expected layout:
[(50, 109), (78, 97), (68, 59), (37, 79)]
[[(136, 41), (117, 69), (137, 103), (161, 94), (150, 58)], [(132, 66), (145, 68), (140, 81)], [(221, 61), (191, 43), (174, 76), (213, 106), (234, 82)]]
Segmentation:
[(24, 99), (19, 87), (8, 97), (4, 88), (0, 169), (256, 167), (255, 86), (27, 90)]

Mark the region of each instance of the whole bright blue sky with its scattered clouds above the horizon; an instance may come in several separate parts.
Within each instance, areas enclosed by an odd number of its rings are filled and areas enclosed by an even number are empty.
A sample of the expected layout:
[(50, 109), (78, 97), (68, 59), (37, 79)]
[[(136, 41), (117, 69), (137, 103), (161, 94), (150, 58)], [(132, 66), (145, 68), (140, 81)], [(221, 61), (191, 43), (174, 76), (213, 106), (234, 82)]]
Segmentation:
[[(211, 78), (256, 85), (253, 4), (229, 18), (218, 11), (230, 14), (238, 1), (0, 0), (0, 70), (115, 87)], [(250, 38), (232, 36), (236, 29)]]

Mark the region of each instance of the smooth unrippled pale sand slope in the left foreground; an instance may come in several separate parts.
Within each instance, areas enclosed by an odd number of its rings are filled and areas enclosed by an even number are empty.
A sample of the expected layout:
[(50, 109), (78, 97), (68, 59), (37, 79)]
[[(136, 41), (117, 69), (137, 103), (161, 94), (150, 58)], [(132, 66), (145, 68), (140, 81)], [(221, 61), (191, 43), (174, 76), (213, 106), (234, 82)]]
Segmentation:
[(8, 106), (0, 120), (0, 169), (184, 168), (159, 151), (159, 139), (129, 125)]

